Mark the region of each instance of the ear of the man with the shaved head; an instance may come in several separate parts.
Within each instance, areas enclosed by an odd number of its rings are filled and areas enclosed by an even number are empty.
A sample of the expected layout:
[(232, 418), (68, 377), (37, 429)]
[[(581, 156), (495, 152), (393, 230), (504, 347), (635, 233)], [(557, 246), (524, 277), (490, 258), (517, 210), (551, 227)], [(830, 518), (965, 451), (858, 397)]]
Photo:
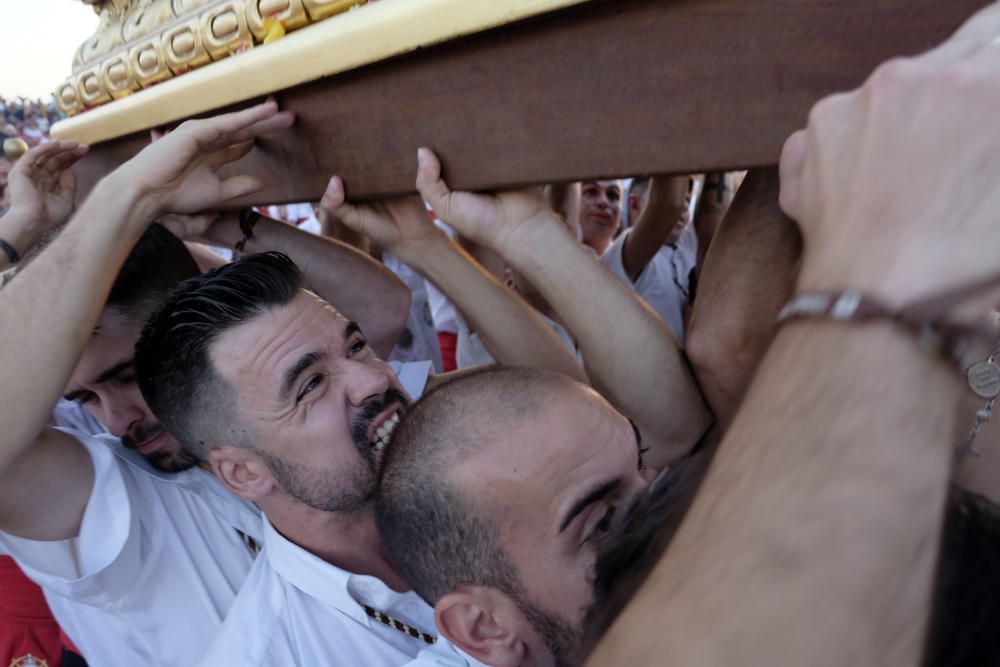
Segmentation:
[(495, 588), (463, 586), (434, 606), (438, 630), (452, 644), (493, 667), (518, 667), (527, 653), (517, 605)]

